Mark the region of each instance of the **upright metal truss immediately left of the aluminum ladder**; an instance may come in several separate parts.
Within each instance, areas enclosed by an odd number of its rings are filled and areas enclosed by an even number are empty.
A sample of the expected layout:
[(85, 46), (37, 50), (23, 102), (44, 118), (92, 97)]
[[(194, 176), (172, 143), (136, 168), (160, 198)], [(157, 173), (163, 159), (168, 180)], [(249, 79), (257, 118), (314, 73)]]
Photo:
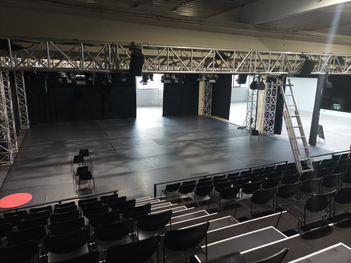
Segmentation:
[(269, 76), (266, 88), (266, 103), (263, 119), (263, 134), (274, 135), (274, 121), (276, 118), (276, 105), (278, 96), (279, 76)]

